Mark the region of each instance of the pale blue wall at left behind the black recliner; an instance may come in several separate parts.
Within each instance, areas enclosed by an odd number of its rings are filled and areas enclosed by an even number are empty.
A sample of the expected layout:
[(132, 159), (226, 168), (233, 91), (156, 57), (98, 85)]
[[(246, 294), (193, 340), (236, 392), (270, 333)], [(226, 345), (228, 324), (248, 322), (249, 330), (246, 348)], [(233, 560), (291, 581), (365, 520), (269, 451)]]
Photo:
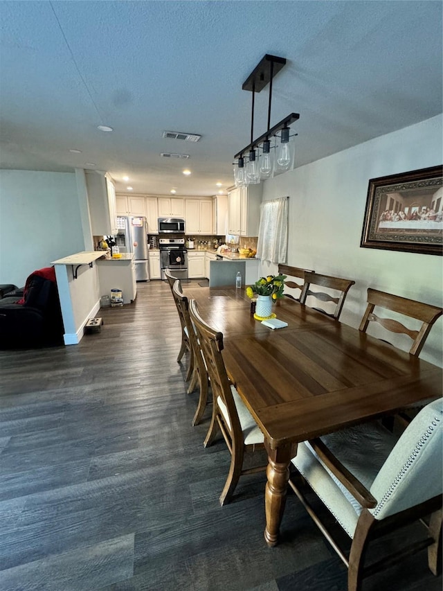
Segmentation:
[(74, 173), (0, 170), (0, 283), (84, 249)]

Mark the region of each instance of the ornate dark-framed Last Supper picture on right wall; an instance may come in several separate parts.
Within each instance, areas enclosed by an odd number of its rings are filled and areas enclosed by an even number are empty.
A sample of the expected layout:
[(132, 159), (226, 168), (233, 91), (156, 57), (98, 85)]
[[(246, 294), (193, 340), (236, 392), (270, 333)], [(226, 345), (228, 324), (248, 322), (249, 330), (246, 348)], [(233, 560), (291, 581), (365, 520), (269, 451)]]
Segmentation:
[(442, 255), (443, 166), (370, 179), (360, 246)]

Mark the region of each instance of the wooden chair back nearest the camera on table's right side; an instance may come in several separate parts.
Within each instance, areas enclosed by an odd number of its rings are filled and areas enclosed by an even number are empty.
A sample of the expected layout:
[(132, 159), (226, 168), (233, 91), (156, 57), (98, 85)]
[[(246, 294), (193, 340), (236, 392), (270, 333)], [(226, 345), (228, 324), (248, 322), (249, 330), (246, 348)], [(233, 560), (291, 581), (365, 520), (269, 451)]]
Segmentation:
[[(403, 316), (415, 318), (422, 322), (418, 330), (410, 330), (406, 328), (401, 322), (392, 318), (382, 318), (374, 314), (374, 308), (384, 308), (392, 312), (398, 312)], [(428, 303), (407, 299), (379, 290), (368, 288), (368, 306), (365, 310), (363, 318), (359, 326), (359, 330), (365, 333), (370, 322), (376, 322), (383, 326), (386, 330), (392, 333), (402, 333), (408, 335), (413, 340), (413, 344), (409, 349), (411, 355), (418, 356), (422, 351), (426, 337), (428, 336), (434, 322), (443, 314), (443, 309), (438, 306), (431, 306)]]

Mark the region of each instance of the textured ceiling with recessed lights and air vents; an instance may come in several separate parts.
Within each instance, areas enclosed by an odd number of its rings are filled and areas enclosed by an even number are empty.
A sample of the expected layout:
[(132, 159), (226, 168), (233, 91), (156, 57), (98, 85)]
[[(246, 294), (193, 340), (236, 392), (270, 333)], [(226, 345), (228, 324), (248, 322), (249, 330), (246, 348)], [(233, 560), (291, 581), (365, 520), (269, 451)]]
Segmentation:
[[(95, 168), (108, 170), (118, 191), (128, 175), (134, 193), (214, 195), (216, 182), (232, 184), (233, 155), (250, 141), (242, 83), (265, 53), (287, 58), (273, 81), (271, 125), (300, 113), (296, 166), (442, 112), (440, 1), (0, 8), (1, 168)], [(266, 131), (268, 89), (256, 95), (255, 137)], [(163, 139), (163, 130), (202, 138)]]

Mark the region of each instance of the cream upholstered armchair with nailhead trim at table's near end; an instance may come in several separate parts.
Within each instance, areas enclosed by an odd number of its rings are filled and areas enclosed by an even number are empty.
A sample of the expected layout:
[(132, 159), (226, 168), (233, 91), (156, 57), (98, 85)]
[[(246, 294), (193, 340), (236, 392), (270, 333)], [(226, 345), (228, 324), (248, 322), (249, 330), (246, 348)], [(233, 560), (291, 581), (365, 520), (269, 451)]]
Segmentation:
[[(362, 579), (428, 548), (428, 567), (440, 570), (442, 532), (443, 402), (426, 405), (397, 439), (373, 421), (298, 444), (292, 459), (302, 485), (289, 484), (348, 569), (348, 591)], [(298, 479), (300, 480), (300, 479)], [(305, 497), (307, 482), (352, 540), (347, 555)], [(424, 518), (431, 515), (428, 522)], [(370, 541), (421, 521), (424, 537), (365, 564)], [(392, 544), (392, 540), (390, 541)], [(383, 549), (384, 552), (385, 549)], [(387, 550), (387, 548), (386, 548)]]

